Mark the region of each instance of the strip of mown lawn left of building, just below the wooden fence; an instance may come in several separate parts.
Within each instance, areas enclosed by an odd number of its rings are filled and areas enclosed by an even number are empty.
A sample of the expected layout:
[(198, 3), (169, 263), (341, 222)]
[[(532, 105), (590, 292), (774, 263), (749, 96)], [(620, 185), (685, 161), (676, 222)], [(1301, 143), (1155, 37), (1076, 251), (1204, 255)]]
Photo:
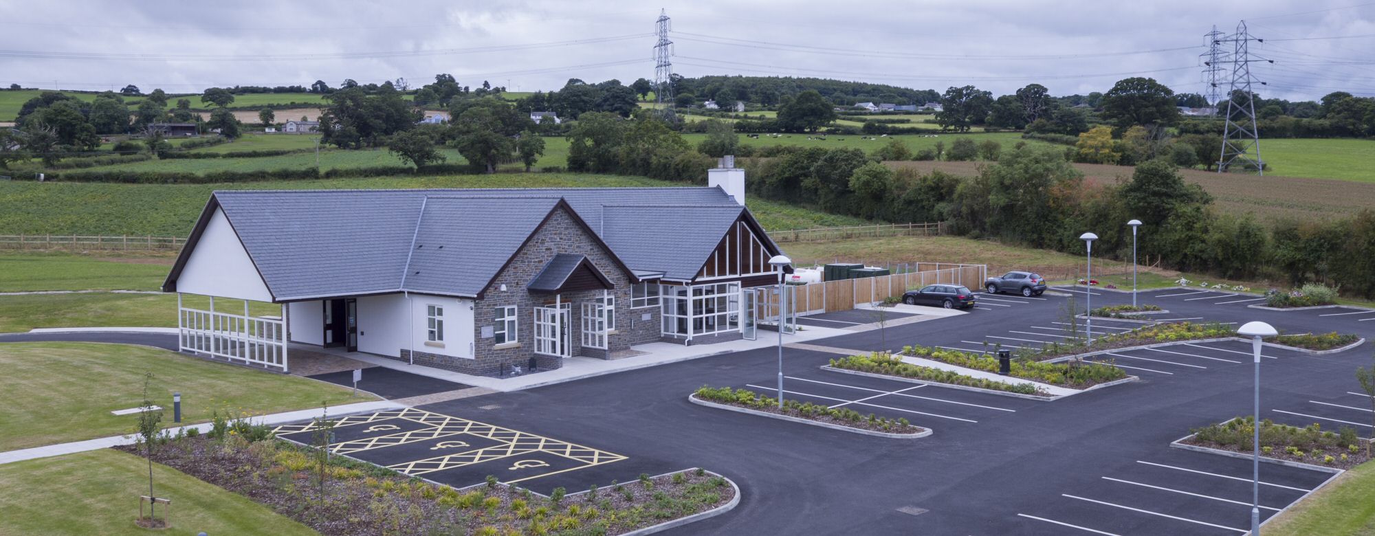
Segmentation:
[(70, 253), (0, 253), (0, 293), (33, 290), (157, 290), (170, 254), (94, 257)]

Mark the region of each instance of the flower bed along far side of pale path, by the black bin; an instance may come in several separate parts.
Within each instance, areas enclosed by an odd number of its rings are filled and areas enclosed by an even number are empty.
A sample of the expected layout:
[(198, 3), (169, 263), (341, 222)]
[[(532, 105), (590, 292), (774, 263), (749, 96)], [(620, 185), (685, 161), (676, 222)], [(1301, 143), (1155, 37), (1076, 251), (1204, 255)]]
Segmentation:
[[(930, 346), (903, 346), (902, 353), (986, 372), (998, 371), (998, 359), (980, 353)], [(1070, 389), (1088, 389), (1128, 377), (1121, 368), (1106, 364), (1084, 361), (1042, 363), (1026, 359), (1012, 360), (1008, 375)]]

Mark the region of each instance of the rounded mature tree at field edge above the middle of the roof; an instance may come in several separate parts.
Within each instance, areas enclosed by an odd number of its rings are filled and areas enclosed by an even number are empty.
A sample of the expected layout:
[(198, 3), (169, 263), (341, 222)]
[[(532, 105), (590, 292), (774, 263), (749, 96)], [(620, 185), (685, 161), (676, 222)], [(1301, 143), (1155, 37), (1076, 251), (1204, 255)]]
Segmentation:
[(495, 173), (496, 165), (516, 151), (516, 136), (534, 126), (528, 114), (496, 98), (472, 99), (454, 110), (454, 147), (487, 173)]

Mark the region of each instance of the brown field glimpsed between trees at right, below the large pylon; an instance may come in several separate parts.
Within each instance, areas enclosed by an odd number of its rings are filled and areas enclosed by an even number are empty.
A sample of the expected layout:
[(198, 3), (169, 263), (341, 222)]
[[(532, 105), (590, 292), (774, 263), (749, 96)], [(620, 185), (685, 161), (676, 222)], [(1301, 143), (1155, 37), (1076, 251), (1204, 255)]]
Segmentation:
[[(940, 169), (964, 176), (978, 173), (978, 166), (982, 165), (980, 162), (888, 164), (914, 168), (923, 173)], [(1082, 170), (1088, 180), (1103, 183), (1130, 180), (1134, 169), (1104, 164), (1075, 164), (1074, 166)], [(1202, 169), (1185, 169), (1184, 177), (1203, 186), (1204, 191), (1213, 194), (1214, 203), (1220, 209), (1236, 214), (1250, 212), (1262, 220), (1326, 219), (1354, 214), (1361, 209), (1375, 206), (1375, 183), (1277, 175), (1261, 177), (1242, 173), (1213, 173)]]

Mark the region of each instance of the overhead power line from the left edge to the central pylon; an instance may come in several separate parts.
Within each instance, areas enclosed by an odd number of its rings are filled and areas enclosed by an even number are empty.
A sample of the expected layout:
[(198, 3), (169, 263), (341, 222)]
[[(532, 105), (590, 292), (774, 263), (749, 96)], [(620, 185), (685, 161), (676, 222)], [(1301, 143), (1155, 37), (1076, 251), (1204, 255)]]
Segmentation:
[(536, 48), (558, 48), (580, 44), (601, 44), (645, 38), (652, 34), (635, 33), (626, 36), (578, 38), (568, 41), (527, 43), (507, 45), (485, 45), (469, 48), (434, 48), (414, 51), (362, 51), (362, 52), (320, 52), (320, 54), (250, 54), (250, 55), (220, 55), (220, 54), (116, 54), (116, 52), (58, 52), (58, 51), (12, 51), (0, 49), (0, 58), (32, 58), (32, 59), (89, 59), (89, 60), (129, 60), (129, 62), (274, 62), (274, 60), (319, 60), (319, 59), (374, 59), (374, 58), (411, 58), (411, 56), (447, 56), (461, 54), (481, 52), (509, 52)]

